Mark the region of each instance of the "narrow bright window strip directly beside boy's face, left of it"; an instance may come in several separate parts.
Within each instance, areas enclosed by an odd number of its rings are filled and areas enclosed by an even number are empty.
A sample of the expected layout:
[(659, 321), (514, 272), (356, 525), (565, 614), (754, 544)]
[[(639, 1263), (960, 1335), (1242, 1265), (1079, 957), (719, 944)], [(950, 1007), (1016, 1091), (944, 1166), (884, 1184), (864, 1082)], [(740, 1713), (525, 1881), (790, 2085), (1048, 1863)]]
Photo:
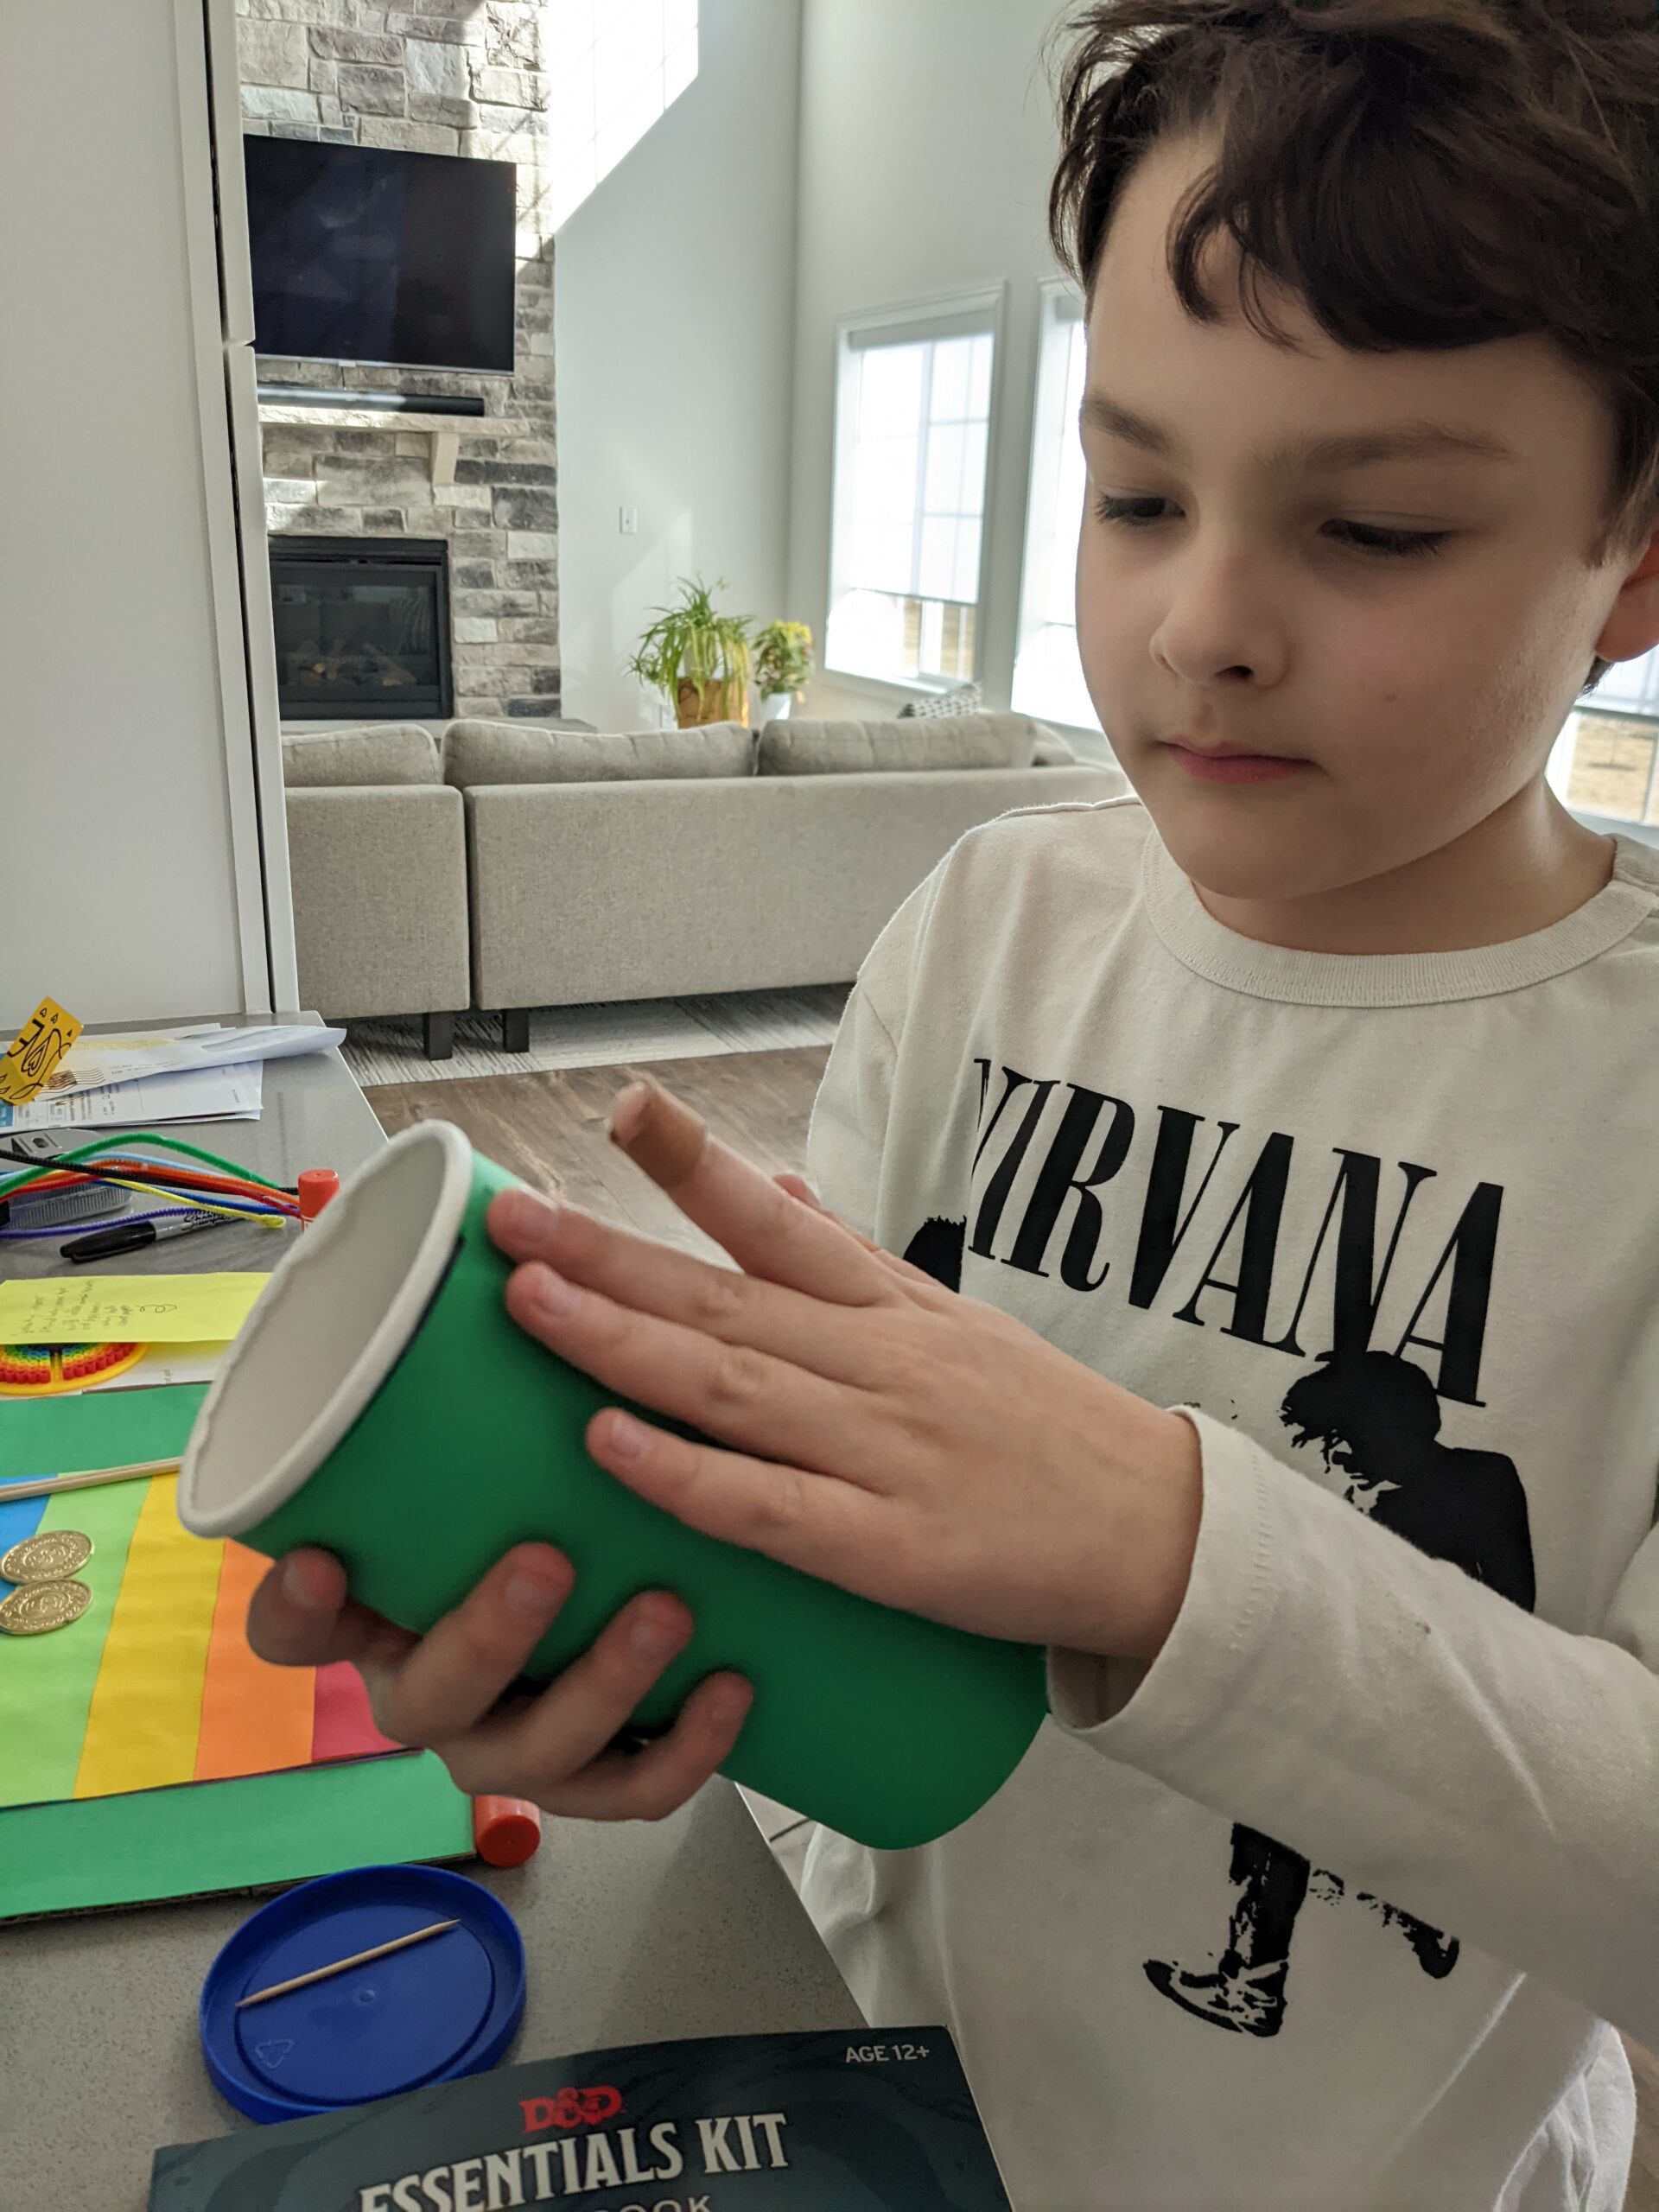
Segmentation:
[(1084, 307), (1060, 279), (1042, 288), (1037, 400), (1031, 422), (1031, 502), (1013, 655), (1013, 708), (1097, 730), (1077, 659), (1077, 531), (1084, 518)]

